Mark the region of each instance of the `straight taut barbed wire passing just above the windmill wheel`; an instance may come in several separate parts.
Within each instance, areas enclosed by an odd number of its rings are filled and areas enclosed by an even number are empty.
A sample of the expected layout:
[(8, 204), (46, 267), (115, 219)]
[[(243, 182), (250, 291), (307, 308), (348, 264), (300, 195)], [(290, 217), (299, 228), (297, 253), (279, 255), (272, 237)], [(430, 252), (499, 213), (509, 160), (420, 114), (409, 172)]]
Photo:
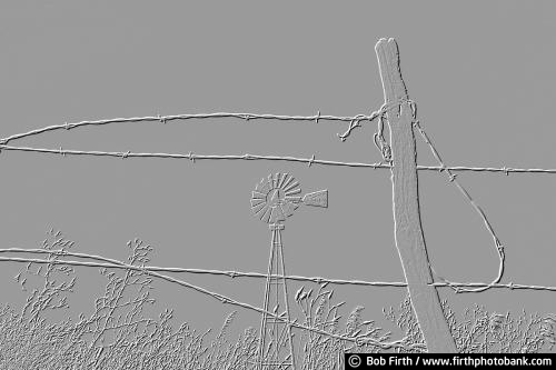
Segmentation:
[[(189, 159), (195, 162), (196, 160), (267, 160), (267, 161), (286, 161), (286, 162), (300, 162), (307, 163), (309, 167), (312, 164), (319, 166), (336, 166), (336, 167), (353, 167), (353, 168), (371, 168), (371, 169), (391, 169), (393, 166), (384, 162), (365, 163), (365, 162), (345, 162), (334, 160), (317, 159), (316, 154), (310, 158), (298, 158), (290, 156), (261, 156), (261, 154), (196, 154), (189, 153), (163, 153), (163, 152), (131, 152), (131, 151), (99, 151), (99, 150), (71, 150), (71, 149), (52, 149), (52, 148), (31, 148), (31, 147), (13, 147), (0, 144), (0, 151), (23, 151), (23, 152), (38, 152), (58, 156), (85, 156), (85, 157), (110, 157), (110, 158), (159, 158), (159, 159)], [(451, 172), (498, 172), (498, 173), (552, 173), (556, 174), (556, 169), (539, 169), (539, 168), (509, 168), (509, 167), (466, 167), (466, 166), (417, 166), (419, 171), (451, 171)]]

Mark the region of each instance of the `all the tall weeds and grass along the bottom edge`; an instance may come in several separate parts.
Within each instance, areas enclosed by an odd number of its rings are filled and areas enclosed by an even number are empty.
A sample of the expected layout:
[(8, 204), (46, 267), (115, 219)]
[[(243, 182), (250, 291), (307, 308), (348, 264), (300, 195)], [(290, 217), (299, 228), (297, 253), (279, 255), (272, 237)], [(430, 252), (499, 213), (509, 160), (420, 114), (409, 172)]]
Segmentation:
[[(44, 250), (69, 250), (73, 242), (50, 230)], [(136, 239), (128, 242), (128, 262), (149, 262), (150, 246)], [(197, 331), (187, 322), (173, 329), (172, 310), (149, 317), (155, 304), (152, 277), (141, 270), (100, 269), (106, 279), (103, 293), (95, 300), (90, 314), (57, 321), (51, 312), (70, 307), (68, 297), (77, 283), (76, 271), (60, 263), (60, 256), (48, 254), (50, 263), (27, 264), (16, 277), (28, 297), (19, 310), (0, 306), (0, 369), (252, 369), (257, 360), (258, 330), (245, 329), (230, 340), (236, 311), (224, 320), (214, 336)], [(56, 262), (56, 263), (54, 263)], [(29, 279), (29, 280), (28, 280)], [(30, 280), (40, 280), (30, 287)], [(319, 332), (296, 331), (295, 352), (298, 368), (341, 369), (345, 352), (383, 352), (379, 343), (393, 340), (393, 333), (364, 320), (364, 307), (356, 306), (346, 319), (340, 310), (345, 301), (334, 301), (327, 283), (302, 287), (295, 294), (300, 309), (299, 322), (328, 333), (359, 338), (354, 341)], [(488, 312), (476, 306), (460, 319), (446, 301), (443, 309), (460, 352), (540, 352), (556, 346), (556, 316)], [(426, 352), (409, 297), (397, 308), (383, 309), (384, 318), (401, 333), (395, 352)], [(396, 336), (398, 337), (398, 336)], [(210, 339), (212, 338), (212, 339)], [(365, 339), (373, 339), (371, 342)]]

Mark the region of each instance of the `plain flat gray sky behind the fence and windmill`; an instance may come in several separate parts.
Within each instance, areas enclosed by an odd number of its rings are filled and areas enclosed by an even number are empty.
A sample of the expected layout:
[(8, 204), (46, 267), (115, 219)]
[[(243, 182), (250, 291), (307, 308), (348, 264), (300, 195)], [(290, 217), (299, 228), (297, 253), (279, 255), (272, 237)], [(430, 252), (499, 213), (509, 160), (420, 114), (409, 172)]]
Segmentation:
[[(374, 46), (394, 37), (419, 119), (447, 164), (556, 168), (553, 1), (234, 2), (57, 1), (0, 6), (0, 137), (115, 117), (214, 111), (355, 116), (383, 102)], [(126, 123), (13, 141), (40, 148), (277, 154), (376, 162), (376, 126), (239, 120)], [(418, 162), (436, 164), (418, 140)], [(36, 248), (53, 227), (77, 251), (125, 259), (135, 237), (152, 264), (265, 271), (270, 233), (249, 210), (261, 177), (286, 171), (304, 192), (328, 189), (329, 209), (286, 223), (292, 274), (401, 281), (388, 171), (286, 162), (0, 154), (2, 246)], [(505, 282), (556, 286), (556, 176), (463, 173), (506, 246)], [(438, 173), (419, 174), (421, 217), (435, 269), (456, 281), (490, 281), (498, 258), (480, 218)], [(1, 264), (2, 301), (26, 292)], [(103, 280), (78, 269), (72, 313), (90, 312)], [(264, 281), (182, 276), (261, 306)], [(292, 284), (291, 291), (299, 286)], [(380, 321), (403, 288), (335, 287), (336, 301)], [(460, 312), (554, 312), (556, 294), (496, 290), (443, 299)], [(176, 321), (218, 328), (232, 309), (157, 283)], [(239, 309), (234, 328), (258, 327)], [(388, 328), (388, 327), (386, 327)], [(396, 336), (395, 336), (396, 337)]]

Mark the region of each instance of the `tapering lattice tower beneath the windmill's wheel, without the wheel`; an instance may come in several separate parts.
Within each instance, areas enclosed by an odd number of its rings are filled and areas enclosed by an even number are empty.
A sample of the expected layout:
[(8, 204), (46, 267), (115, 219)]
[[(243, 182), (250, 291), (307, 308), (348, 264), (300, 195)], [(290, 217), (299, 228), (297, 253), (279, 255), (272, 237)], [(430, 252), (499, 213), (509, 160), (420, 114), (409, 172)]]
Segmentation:
[(289, 319), (288, 288), (281, 230), (284, 224), (269, 224), (272, 231), (270, 257), (268, 261), (267, 283), (265, 287), (265, 312), (260, 322), (258, 370), (296, 369), (291, 326), (266, 312), (272, 312), (281, 319)]

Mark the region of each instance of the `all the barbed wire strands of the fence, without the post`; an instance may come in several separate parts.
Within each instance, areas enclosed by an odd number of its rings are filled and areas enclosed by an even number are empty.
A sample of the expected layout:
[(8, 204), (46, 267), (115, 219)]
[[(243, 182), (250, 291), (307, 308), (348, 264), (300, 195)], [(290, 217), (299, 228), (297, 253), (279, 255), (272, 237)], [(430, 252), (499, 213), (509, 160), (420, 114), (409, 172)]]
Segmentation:
[[(79, 122), (64, 122), (61, 124), (48, 126), (44, 128), (21, 132), (12, 134), (0, 139), (0, 152), (1, 151), (22, 151), (22, 152), (33, 152), (43, 154), (54, 154), (54, 156), (81, 156), (81, 157), (108, 157), (115, 159), (139, 159), (139, 158), (158, 158), (158, 159), (186, 159), (195, 163), (196, 161), (203, 160), (247, 160), (247, 161), (284, 161), (284, 162), (297, 162), (304, 163), (308, 167), (311, 166), (329, 166), (329, 167), (350, 167), (350, 168), (367, 168), (374, 170), (393, 170), (394, 164), (391, 161), (390, 148), (383, 136), (384, 121), (387, 120), (386, 114), (391, 110), (399, 109), (400, 104), (407, 104), (411, 110), (413, 129), (419, 132), (420, 138), (428, 146), (433, 156), (437, 160), (437, 166), (417, 166), (418, 171), (436, 171), (438, 173), (446, 173), (448, 183), (454, 184), (459, 192), (464, 196), (467, 202), (473, 207), (475, 212), (480, 217), (490, 237), (493, 238), (494, 248), (498, 254), (499, 263), (495, 278), (490, 282), (457, 282), (450, 281), (445, 277), (439, 276), (433, 266), (429, 268), (433, 274), (439, 281), (433, 281), (426, 286), (435, 288), (450, 288), (456, 293), (476, 293), (484, 292), (489, 289), (508, 289), (508, 290), (533, 290), (533, 291), (553, 291), (556, 292), (555, 286), (538, 286), (538, 284), (523, 284), (523, 283), (502, 283), (504, 277), (505, 268), (505, 253), (504, 246), (494, 231), (492, 222), (488, 220), (486, 212), (483, 208), (473, 199), (469, 191), (461, 184), (457, 179), (457, 173), (455, 172), (487, 172), (487, 173), (503, 173), (509, 176), (509, 173), (524, 173), (524, 174), (556, 174), (556, 169), (543, 169), (543, 168), (512, 168), (512, 167), (464, 167), (464, 166), (447, 166), (443, 158), (440, 157), (438, 150), (433, 144), (430, 134), (426, 132), (420, 121), (417, 119), (417, 104), (410, 99), (400, 99), (393, 102), (384, 103), (378, 110), (375, 110), (368, 114), (356, 114), (349, 117), (341, 116), (328, 116), (321, 114), (318, 111), (314, 116), (287, 116), (287, 114), (260, 114), (260, 113), (234, 113), (234, 112), (214, 112), (214, 113), (196, 113), (196, 114), (175, 114), (175, 116), (146, 116), (146, 117), (132, 117), (132, 118), (113, 118), (103, 120), (91, 120), (91, 121), (79, 121)], [(59, 131), (59, 130), (75, 130), (83, 127), (97, 127), (97, 126), (111, 126), (111, 124), (129, 124), (137, 122), (153, 122), (166, 124), (170, 121), (172, 122), (187, 122), (191, 120), (218, 120), (218, 119), (236, 119), (237, 122), (256, 122), (261, 120), (271, 120), (277, 123), (286, 121), (297, 121), (305, 123), (318, 124), (319, 121), (337, 122), (339, 124), (348, 124), (347, 129), (342, 133), (338, 133), (337, 137), (341, 141), (346, 141), (354, 130), (361, 127), (363, 122), (377, 122), (378, 132), (375, 136), (375, 143), (377, 144), (380, 154), (383, 156), (383, 161), (376, 163), (367, 162), (346, 162), (336, 160), (325, 160), (318, 159), (316, 154), (310, 158), (298, 158), (290, 156), (268, 156), (268, 154), (252, 154), (252, 153), (239, 153), (239, 154), (202, 154), (202, 153), (166, 153), (166, 152), (131, 152), (131, 151), (92, 151), (92, 150), (77, 150), (77, 149), (63, 149), (63, 148), (34, 148), (34, 147), (19, 147), (10, 144), (13, 141), (37, 137), (46, 132)], [(232, 123), (230, 123), (232, 124)], [(178, 286), (191, 289), (199, 293), (209, 296), (215, 300), (220, 301), (224, 304), (231, 304), (235, 307), (240, 307), (247, 310), (256, 311), (258, 313), (266, 313), (267, 316), (274, 318), (275, 320), (280, 320), (288, 326), (297, 329), (302, 329), (311, 331), (321, 336), (327, 336), (335, 339), (340, 339), (344, 341), (350, 341), (353, 343), (361, 344), (374, 344), (381, 349), (391, 348), (403, 348), (405, 350), (420, 349), (425, 350), (426, 346), (423, 343), (407, 344), (405, 342), (406, 338), (399, 340), (384, 342), (371, 338), (366, 338), (365, 334), (349, 337), (345, 334), (331, 333), (326, 330), (320, 330), (309, 326), (304, 326), (298, 323), (296, 320), (289, 321), (285, 318), (278, 316), (275, 312), (266, 311), (260, 307), (249, 304), (230, 297), (210, 291), (206, 288), (189, 283), (185, 280), (170, 277), (165, 273), (191, 273), (191, 274), (210, 274), (228, 277), (231, 279), (251, 278), (251, 279), (267, 279), (266, 273), (260, 272), (245, 272), (245, 271), (224, 271), (224, 270), (210, 270), (210, 269), (196, 269), (196, 268), (177, 268), (177, 267), (156, 267), (156, 266), (141, 266), (137, 267), (133, 264), (125, 263), (116, 259), (110, 259), (101, 256), (93, 256), (89, 253), (78, 253), (69, 252), (67, 250), (44, 250), (44, 249), (26, 249), (26, 248), (4, 248), (0, 249), (0, 254), (48, 254), (47, 258), (28, 258), (28, 257), (0, 257), (0, 261), (4, 262), (16, 262), (16, 263), (38, 263), (38, 264), (67, 264), (67, 266), (81, 266), (81, 267), (96, 267), (105, 269), (123, 269), (123, 270), (138, 270), (142, 271), (148, 276), (158, 278), (168, 282), (176, 283)], [(57, 259), (52, 259), (56, 256)], [(73, 258), (73, 259), (67, 259)], [(330, 283), (338, 286), (363, 286), (363, 287), (389, 287), (389, 288), (404, 288), (408, 287), (407, 281), (364, 281), (364, 280), (342, 280), (332, 279), (326, 277), (304, 277), (304, 276), (272, 276), (272, 278), (286, 279), (291, 281), (304, 281), (304, 282), (315, 282), (315, 283)]]

